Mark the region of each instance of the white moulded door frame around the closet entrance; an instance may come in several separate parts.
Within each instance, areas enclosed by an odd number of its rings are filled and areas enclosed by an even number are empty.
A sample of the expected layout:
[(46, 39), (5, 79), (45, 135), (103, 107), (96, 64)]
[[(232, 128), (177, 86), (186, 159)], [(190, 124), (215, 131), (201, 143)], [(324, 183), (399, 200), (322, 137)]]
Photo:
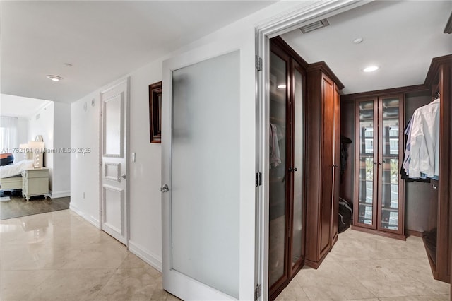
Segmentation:
[(261, 283), (258, 300), (268, 300), (268, 126), (270, 122), (270, 38), (328, 18), (374, 0), (318, 1), (311, 6), (291, 10), (279, 18), (273, 18), (256, 27), (256, 57), (261, 71), (256, 72), (256, 173), (261, 172), (262, 184), (256, 187), (256, 285)]

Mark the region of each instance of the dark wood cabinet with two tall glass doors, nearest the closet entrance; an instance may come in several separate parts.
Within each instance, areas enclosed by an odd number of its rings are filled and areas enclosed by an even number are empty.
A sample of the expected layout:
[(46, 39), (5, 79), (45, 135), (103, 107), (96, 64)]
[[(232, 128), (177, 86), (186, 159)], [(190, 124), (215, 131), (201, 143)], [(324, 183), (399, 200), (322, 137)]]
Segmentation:
[(306, 73), (284, 45), (270, 40), (270, 300), (304, 265)]

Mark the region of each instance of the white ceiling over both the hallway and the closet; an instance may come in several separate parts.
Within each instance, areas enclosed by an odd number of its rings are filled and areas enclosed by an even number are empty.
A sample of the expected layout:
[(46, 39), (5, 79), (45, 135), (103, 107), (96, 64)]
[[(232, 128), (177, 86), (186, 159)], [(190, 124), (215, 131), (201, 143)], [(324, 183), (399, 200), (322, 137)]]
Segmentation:
[[(274, 2), (1, 1), (1, 93), (70, 103)], [(326, 61), (345, 94), (417, 85), (452, 53), (451, 11), (452, 1), (374, 1), (282, 37), (308, 63)], [(362, 73), (371, 63), (381, 68)]]

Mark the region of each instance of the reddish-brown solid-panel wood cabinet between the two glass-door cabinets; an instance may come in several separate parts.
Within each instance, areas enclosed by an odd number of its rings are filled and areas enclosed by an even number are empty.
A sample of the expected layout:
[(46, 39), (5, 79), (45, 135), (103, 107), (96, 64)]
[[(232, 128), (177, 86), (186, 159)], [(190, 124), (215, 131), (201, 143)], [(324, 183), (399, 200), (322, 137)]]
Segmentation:
[(306, 264), (318, 268), (338, 240), (342, 83), (321, 62), (307, 69)]

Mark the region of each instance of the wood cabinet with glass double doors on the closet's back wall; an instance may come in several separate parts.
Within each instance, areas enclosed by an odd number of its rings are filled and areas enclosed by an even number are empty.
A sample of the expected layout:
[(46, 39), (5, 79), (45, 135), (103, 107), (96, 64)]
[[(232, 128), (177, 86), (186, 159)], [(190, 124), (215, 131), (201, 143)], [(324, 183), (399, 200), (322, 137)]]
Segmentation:
[[(405, 240), (403, 95), (355, 102), (355, 203), (352, 228)], [(376, 232), (378, 231), (378, 232)]]

